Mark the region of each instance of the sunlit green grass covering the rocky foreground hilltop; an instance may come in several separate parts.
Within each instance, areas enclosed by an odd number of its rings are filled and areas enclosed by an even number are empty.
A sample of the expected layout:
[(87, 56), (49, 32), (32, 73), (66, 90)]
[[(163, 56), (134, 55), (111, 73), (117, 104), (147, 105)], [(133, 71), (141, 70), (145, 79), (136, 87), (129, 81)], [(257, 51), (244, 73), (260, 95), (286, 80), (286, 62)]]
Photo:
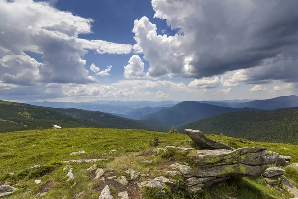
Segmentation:
[[(235, 148), (244, 146), (264, 146), (268, 150), (289, 155), (293, 161), (298, 161), (298, 149), (296, 146), (277, 143), (260, 143), (244, 139), (228, 138), (224, 136), (207, 135), (208, 137), (230, 144)], [(149, 146), (149, 138), (156, 137), (159, 146)], [(165, 146), (196, 147), (197, 146), (184, 134), (170, 134), (152, 132), (137, 129), (104, 129), (104, 128), (71, 128), (71, 129), (46, 129), (43, 131), (19, 131), (0, 133), (0, 184), (18, 184), (19, 188), (8, 199), (30, 199), (39, 192), (39, 188), (45, 183), (51, 183), (52, 188), (47, 192), (44, 199), (72, 199), (75, 194), (80, 194), (81, 199), (97, 199), (100, 192), (94, 187), (96, 181), (90, 181), (87, 168), (90, 163), (71, 163), (75, 182), (66, 182), (67, 170), (62, 171), (68, 163), (61, 161), (83, 158), (106, 158), (106, 161), (97, 162), (105, 171), (129, 168), (150, 176), (159, 175), (159, 170), (168, 170), (167, 161), (161, 156), (142, 156), (150, 150)], [(109, 153), (111, 150), (115, 153)], [(86, 153), (70, 156), (74, 151), (85, 150)], [(170, 154), (171, 155), (171, 154)], [(177, 155), (177, 154), (174, 154)], [(178, 154), (179, 155), (179, 154)], [(183, 159), (184, 157), (181, 157)], [(144, 164), (143, 160), (152, 160), (153, 164)], [(36, 164), (45, 165), (29, 175), (26, 169)], [(14, 172), (11, 176), (8, 172)], [(120, 175), (120, 174), (119, 174)], [(287, 169), (286, 176), (298, 185), (298, 171), (293, 168)], [(143, 178), (143, 177), (142, 177)], [(183, 184), (183, 178), (169, 177), (173, 181)], [(41, 179), (42, 183), (36, 185), (34, 180)], [(144, 179), (145, 180), (145, 179)], [(27, 191), (30, 189), (29, 191)], [(150, 195), (150, 194), (149, 194)], [(243, 178), (241, 184), (229, 182), (222, 187), (206, 190), (203, 195), (192, 196), (193, 199), (212, 199), (221, 196), (237, 196), (243, 199), (285, 198), (285, 194), (262, 183), (259, 178)], [(199, 198), (198, 198), (199, 197)], [(183, 199), (183, 193), (174, 194), (174, 198)], [(190, 197), (186, 197), (191, 199)], [(185, 199), (186, 199), (185, 198)]]

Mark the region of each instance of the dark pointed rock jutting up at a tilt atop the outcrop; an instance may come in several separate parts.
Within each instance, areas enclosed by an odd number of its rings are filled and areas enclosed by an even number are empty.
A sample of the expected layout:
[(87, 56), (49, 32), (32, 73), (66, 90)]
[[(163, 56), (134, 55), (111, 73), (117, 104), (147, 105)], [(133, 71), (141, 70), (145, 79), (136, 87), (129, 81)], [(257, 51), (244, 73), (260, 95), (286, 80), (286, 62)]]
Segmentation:
[(234, 150), (233, 147), (230, 147), (227, 144), (222, 142), (214, 141), (204, 135), (199, 130), (185, 129), (184, 132), (193, 140), (195, 144), (197, 144), (200, 149), (228, 149)]

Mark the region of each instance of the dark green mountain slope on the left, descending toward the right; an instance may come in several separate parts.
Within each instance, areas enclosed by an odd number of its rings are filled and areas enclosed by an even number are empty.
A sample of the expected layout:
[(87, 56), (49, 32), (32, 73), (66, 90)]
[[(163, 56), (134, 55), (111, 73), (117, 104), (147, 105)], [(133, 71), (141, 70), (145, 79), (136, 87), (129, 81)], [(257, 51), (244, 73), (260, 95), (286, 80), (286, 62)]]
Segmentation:
[(56, 124), (62, 128), (83, 126), (166, 130), (103, 112), (45, 108), (29, 104), (0, 101), (0, 132), (33, 130), (37, 129), (37, 126), (47, 129), (51, 128), (52, 124)]

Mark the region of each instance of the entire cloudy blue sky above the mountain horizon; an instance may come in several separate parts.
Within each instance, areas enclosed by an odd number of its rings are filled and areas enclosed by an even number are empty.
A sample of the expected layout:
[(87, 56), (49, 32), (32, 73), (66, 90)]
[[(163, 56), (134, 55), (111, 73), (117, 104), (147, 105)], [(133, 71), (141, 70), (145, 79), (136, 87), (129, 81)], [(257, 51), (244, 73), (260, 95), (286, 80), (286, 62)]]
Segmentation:
[(0, 0), (0, 100), (298, 95), (297, 0)]

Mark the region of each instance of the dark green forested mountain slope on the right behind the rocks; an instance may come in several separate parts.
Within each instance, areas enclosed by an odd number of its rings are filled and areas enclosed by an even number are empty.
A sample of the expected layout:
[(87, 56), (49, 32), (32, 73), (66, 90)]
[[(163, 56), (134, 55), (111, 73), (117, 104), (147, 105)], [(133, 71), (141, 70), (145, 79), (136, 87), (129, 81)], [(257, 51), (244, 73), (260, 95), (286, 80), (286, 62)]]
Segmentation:
[(178, 127), (198, 129), (254, 141), (298, 143), (298, 108), (271, 111), (245, 111), (217, 115)]

